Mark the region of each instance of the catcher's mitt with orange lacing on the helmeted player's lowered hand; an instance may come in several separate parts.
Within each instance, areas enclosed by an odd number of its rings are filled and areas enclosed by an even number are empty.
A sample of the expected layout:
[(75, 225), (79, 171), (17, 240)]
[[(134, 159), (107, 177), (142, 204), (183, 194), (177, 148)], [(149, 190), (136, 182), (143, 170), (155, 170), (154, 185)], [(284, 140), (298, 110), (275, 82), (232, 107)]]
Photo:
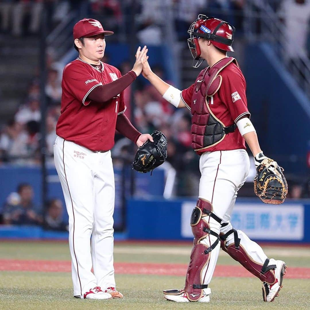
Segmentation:
[(284, 202), (288, 189), (284, 169), (263, 153), (255, 155), (257, 174), (254, 179), (254, 192), (264, 203), (278, 205)]

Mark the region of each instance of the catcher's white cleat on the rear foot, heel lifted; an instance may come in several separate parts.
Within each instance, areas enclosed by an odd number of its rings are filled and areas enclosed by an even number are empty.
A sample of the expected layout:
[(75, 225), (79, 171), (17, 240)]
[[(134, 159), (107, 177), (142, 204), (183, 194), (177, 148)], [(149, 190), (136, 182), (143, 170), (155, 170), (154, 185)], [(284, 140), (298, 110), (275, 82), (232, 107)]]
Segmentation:
[(269, 264), (276, 265), (276, 268), (274, 269), (276, 283), (268, 284), (266, 282), (263, 282), (263, 300), (266, 302), (272, 302), (277, 296), (279, 296), (279, 291), (283, 287), (283, 276), (286, 273), (286, 264), (282, 260), (275, 260), (271, 258)]

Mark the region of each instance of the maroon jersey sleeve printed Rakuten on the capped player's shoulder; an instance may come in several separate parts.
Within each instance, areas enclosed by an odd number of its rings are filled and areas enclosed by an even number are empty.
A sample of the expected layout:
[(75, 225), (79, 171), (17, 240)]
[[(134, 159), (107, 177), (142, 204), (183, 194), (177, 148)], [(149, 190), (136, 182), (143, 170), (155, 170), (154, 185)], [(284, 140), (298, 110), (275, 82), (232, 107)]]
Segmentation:
[(71, 64), (64, 69), (63, 85), (82, 104), (88, 105), (91, 101), (86, 97), (102, 83), (84, 67)]

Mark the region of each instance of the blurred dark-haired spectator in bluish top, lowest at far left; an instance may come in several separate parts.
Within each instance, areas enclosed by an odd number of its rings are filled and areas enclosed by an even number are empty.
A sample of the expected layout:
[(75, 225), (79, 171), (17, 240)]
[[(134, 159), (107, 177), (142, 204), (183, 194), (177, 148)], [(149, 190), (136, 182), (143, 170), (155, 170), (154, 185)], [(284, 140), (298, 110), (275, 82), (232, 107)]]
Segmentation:
[(39, 225), (42, 224), (42, 216), (38, 214), (33, 203), (33, 188), (28, 183), (21, 183), (17, 187), (20, 200), (12, 204), (9, 200), (3, 208), (4, 224), (15, 225)]

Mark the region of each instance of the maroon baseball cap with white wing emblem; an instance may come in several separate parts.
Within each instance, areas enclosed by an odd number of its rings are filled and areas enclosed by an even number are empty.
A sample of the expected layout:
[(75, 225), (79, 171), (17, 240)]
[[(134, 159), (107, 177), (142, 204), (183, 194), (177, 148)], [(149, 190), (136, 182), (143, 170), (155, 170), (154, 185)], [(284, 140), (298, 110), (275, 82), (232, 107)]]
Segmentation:
[(96, 34), (100, 33), (104, 33), (104, 35), (109, 36), (114, 32), (104, 30), (101, 23), (98, 20), (94, 20), (92, 18), (83, 18), (73, 27), (74, 40), (82, 37), (95, 36)]

